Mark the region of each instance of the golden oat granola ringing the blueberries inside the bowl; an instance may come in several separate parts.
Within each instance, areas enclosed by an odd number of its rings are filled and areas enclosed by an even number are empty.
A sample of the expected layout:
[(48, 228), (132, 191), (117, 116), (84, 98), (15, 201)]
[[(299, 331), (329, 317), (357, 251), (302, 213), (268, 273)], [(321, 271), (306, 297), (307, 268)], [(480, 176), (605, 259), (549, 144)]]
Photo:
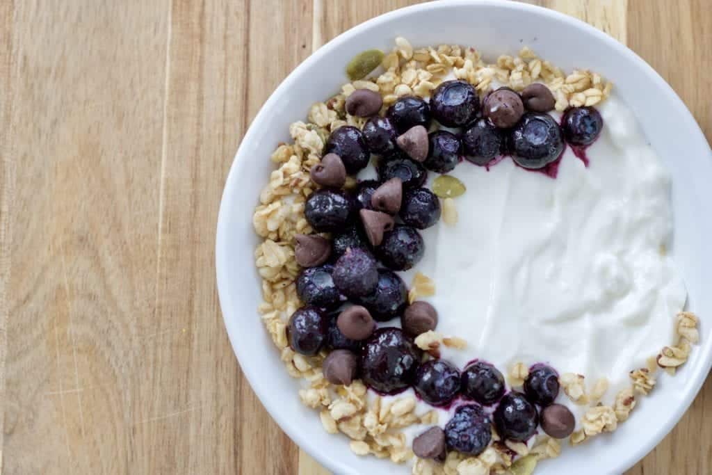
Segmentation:
[[(502, 442), (494, 432), (493, 444), (479, 456), (451, 451), (444, 463), (417, 459), (407, 446), (402, 429), (412, 424), (437, 424), (436, 411), (416, 414), (416, 401), (412, 397), (369, 397), (367, 388), (360, 380), (348, 386), (332, 385), (322, 371), (325, 352), (306, 357), (290, 348), (286, 333), (288, 318), (301, 306), (295, 288), (300, 266), (295, 260), (294, 236), (313, 232), (304, 215), (305, 201), (316, 187), (310, 179), (310, 169), (320, 163), (330, 133), (344, 125), (362, 128), (365, 124), (365, 118), (350, 115), (345, 110), (346, 98), (357, 89), (379, 93), (383, 100), (383, 112), (404, 95), (428, 98), (447, 75), (467, 80), (481, 95), (503, 85), (521, 91), (532, 83), (543, 83), (554, 95), (555, 109), (563, 111), (570, 106), (600, 103), (611, 93), (612, 83), (586, 70), (565, 74), (526, 47), (518, 56), (499, 56), (495, 62), (487, 63), (471, 47), (440, 45), (413, 48), (405, 38), (396, 38), (395, 43), (393, 51), (382, 60), (381, 73), (347, 83), (340, 93), (329, 100), (315, 103), (308, 111), (308, 122), (298, 121), (290, 125), (292, 142), (279, 145), (271, 155), (276, 169), (262, 189), (260, 204), (253, 214), (254, 229), (263, 238), (255, 250), (263, 294), (263, 303), (258, 310), (273, 343), (281, 352), (288, 374), (305, 381), (305, 386), (298, 392), (300, 400), (319, 411), (326, 432), (340, 432), (349, 437), (355, 454), (372, 454), (397, 463), (414, 459), (412, 473), (416, 475), (530, 474), (537, 461), (560, 454), (560, 443), (556, 439), (540, 437), (537, 444), (530, 448), (521, 442)], [(355, 179), (347, 177), (345, 187), (355, 185)], [(453, 184), (448, 186), (444, 194), (436, 194), (444, 198), (444, 223), (454, 226), (458, 213), (453, 198), (464, 192), (464, 187), (461, 192), (457, 189), (453, 192)], [(412, 303), (420, 297), (431, 296), (435, 291), (434, 281), (417, 273), (408, 301)], [(630, 373), (631, 386), (616, 395), (612, 407), (600, 403), (608, 390), (607, 380), (595, 382), (587, 391), (584, 376), (573, 373), (561, 375), (562, 389), (570, 400), (590, 405), (580, 421), (580, 430), (571, 435), (570, 443), (580, 444), (597, 434), (612, 432), (619, 422), (627, 420), (637, 404), (635, 393), (647, 395), (654, 388), (657, 367), (674, 374), (676, 368), (687, 360), (691, 344), (699, 339), (697, 325), (698, 320), (693, 313), (681, 312), (677, 315), (677, 341), (662, 348), (654, 358), (654, 364)], [(441, 345), (466, 348), (465, 340), (434, 331), (422, 333), (415, 343), (434, 356), (439, 355)], [(521, 387), (527, 376), (528, 367), (518, 362), (510, 368), (507, 379), (512, 387)]]

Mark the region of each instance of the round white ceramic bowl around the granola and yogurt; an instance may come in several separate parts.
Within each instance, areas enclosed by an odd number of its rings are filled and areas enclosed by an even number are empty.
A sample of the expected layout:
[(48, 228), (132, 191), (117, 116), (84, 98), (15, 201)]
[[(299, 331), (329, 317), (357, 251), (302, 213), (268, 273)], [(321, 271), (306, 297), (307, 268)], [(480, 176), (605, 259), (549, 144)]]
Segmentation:
[[(637, 115), (651, 144), (672, 172), (672, 253), (689, 291), (689, 308), (701, 315), (701, 344), (674, 378), (639, 403), (613, 434), (566, 450), (540, 464), (546, 474), (621, 473), (672, 429), (697, 394), (712, 364), (712, 152), (685, 105), (641, 58), (587, 24), (525, 4), (501, 1), (442, 1), (393, 11), (365, 22), (320, 48), (277, 88), (263, 105), (240, 145), (227, 179), (218, 219), (216, 267), (225, 325), (253, 390), (280, 427), (336, 474), (389, 474), (390, 461), (352, 454), (346, 437), (324, 432), (318, 414), (297, 397), (298, 382), (287, 375), (278, 351), (256, 312), (261, 286), (254, 268), (258, 236), (252, 212), (268, 181), (268, 157), (289, 140), (290, 122), (304, 120), (309, 106), (347, 82), (347, 61), (367, 48), (392, 48), (395, 36), (414, 46), (459, 43), (486, 56), (517, 53), (531, 46), (565, 70), (590, 68), (615, 83)], [(405, 469), (402, 469), (404, 472)]]

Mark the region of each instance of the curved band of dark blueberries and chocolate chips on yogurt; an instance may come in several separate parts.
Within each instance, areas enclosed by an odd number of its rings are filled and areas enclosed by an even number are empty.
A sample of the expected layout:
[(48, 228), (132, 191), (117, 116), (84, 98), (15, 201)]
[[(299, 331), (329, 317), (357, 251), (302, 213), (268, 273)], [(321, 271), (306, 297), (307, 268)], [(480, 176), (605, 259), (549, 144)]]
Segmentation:
[[(547, 365), (530, 369), (520, 393), (507, 392), (502, 373), (487, 362), (476, 360), (461, 371), (439, 357), (424, 358), (414, 338), (433, 330), (438, 315), (428, 303), (408, 305), (396, 273), (422, 259), (419, 230), (441, 215), (438, 197), (423, 187), (428, 170), (448, 173), (462, 159), (488, 165), (501, 155), (511, 155), (520, 167), (543, 169), (560, 157), (565, 142), (587, 147), (600, 134), (602, 118), (594, 108), (567, 110), (559, 125), (548, 115), (553, 107), (543, 85), (521, 94), (500, 88), (480, 100), (471, 84), (450, 80), (429, 103), (406, 96), (379, 115), (378, 93), (357, 90), (346, 108), (368, 118), (363, 130), (334, 130), (311, 170), (320, 189), (308, 197), (305, 218), (322, 234), (295, 236), (295, 259), (303, 266), (296, 290), (305, 306), (290, 317), (290, 346), (303, 355), (329, 350), (323, 372), (333, 384), (360, 378), (386, 395), (413, 387), (436, 407), (463, 400), (444, 430), (434, 427), (415, 439), (419, 456), (479, 454), (491, 441), (492, 424), (502, 439), (522, 442), (539, 424), (552, 437), (567, 437), (573, 429), (570, 411), (553, 404), (559, 382)], [(456, 132), (428, 132), (434, 122)], [(347, 175), (365, 168), (372, 155), (378, 178), (343, 189)], [(401, 328), (377, 328), (394, 318)]]

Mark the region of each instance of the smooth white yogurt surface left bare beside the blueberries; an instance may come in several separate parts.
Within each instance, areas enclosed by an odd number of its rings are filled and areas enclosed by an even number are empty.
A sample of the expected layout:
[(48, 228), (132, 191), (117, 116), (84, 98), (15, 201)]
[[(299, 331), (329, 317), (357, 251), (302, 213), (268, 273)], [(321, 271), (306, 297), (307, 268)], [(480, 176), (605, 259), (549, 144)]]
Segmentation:
[(556, 179), (510, 158), (451, 172), (467, 188), (455, 199), (459, 221), (422, 231), (424, 258), (403, 275), (434, 279), (426, 300), (437, 331), (468, 342), (443, 348), (444, 359), (486, 360), (504, 374), (515, 362), (546, 362), (585, 375), (589, 387), (607, 377), (612, 402), (628, 372), (673, 341), (686, 290), (664, 251), (669, 172), (624, 104), (609, 98), (599, 110), (589, 167), (567, 148)]

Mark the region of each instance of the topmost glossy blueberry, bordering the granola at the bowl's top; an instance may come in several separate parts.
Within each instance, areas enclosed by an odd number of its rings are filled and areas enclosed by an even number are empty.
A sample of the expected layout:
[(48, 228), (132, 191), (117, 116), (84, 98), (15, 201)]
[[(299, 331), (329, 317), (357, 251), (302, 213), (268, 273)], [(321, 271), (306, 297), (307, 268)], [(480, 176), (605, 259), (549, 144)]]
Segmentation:
[(446, 80), (434, 90), (430, 110), (442, 125), (462, 127), (476, 117), (480, 110), (480, 98), (466, 80)]

